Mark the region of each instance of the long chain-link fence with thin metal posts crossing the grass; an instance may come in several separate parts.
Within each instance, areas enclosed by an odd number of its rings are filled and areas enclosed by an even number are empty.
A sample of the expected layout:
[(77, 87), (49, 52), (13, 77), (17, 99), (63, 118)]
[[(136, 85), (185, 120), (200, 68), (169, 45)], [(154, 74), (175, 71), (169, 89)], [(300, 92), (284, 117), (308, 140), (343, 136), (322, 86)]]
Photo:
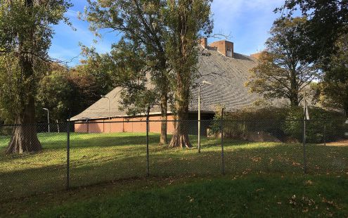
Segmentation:
[[(1, 199), (148, 175), (348, 172), (346, 120), (170, 120), (165, 146), (161, 123), (2, 125)], [(36, 136), (42, 150), (6, 154)]]

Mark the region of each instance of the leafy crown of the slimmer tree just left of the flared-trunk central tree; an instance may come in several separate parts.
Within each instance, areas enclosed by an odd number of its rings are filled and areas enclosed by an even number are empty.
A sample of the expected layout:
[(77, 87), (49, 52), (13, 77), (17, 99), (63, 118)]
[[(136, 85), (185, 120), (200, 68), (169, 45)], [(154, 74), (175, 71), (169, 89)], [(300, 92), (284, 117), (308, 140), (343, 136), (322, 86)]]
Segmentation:
[(86, 20), (90, 29), (110, 28), (122, 32), (112, 45), (109, 68), (117, 86), (122, 87), (121, 109), (128, 114), (144, 113), (160, 105), (167, 113), (169, 82), (165, 50), (166, 1), (88, 1)]

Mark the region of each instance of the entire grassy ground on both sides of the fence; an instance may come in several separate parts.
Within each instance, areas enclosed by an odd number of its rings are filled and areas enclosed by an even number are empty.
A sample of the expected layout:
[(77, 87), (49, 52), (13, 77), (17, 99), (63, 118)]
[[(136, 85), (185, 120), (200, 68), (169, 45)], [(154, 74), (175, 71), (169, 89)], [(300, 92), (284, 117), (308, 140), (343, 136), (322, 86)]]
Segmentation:
[[(26, 155), (4, 155), (8, 139), (0, 139), (0, 214), (79, 217), (87, 212), (90, 217), (151, 217), (155, 212), (176, 217), (233, 217), (258, 213), (288, 217), (346, 213), (347, 217), (347, 146), (309, 145), (311, 175), (304, 176), (301, 145), (227, 139), (228, 175), (221, 177), (219, 139), (202, 139), (202, 153), (198, 154), (195, 148), (159, 147), (159, 136), (151, 134), (150, 174), (155, 177), (134, 179), (146, 175), (145, 134), (72, 134), (73, 187), (133, 179), (63, 191), (66, 135), (39, 134), (39, 139), (44, 150)], [(195, 136), (191, 141), (195, 145)], [(22, 198), (33, 193), (37, 195)], [(296, 195), (295, 203), (290, 204), (292, 195)], [(15, 197), (20, 198), (11, 200)]]

